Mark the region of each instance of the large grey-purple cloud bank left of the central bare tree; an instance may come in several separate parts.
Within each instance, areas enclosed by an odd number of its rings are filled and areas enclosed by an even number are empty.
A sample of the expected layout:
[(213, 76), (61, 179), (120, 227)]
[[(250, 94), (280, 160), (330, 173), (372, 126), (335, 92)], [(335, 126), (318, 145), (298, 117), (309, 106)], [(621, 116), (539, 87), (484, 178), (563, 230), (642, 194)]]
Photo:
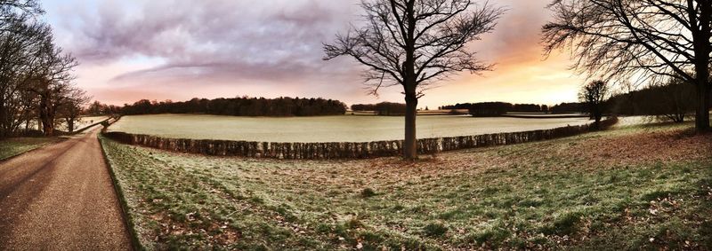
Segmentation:
[(130, 57), (163, 66), (115, 78), (266, 78), (351, 71), (320, 60), (321, 43), (356, 17), (353, 1), (105, 1), (78, 13), (65, 45), (85, 64)]

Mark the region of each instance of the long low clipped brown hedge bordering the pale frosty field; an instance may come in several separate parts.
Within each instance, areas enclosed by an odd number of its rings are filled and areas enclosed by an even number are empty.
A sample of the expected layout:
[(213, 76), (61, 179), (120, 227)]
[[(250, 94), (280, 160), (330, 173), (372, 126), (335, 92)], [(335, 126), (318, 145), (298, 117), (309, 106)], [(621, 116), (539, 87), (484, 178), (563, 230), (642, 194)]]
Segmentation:
[[(602, 122), (608, 128), (618, 122), (611, 118)], [(512, 145), (558, 137), (570, 137), (591, 131), (590, 125), (567, 126), (462, 137), (422, 138), (417, 141), (418, 153), (441, 153), (466, 148), (492, 145)], [(366, 159), (401, 155), (402, 140), (375, 142), (332, 143), (271, 143), (210, 139), (167, 138), (125, 132), (104, 132), (118, 142), (142, 145), (179, 153), (198, 153), (215, 156), (242, 156), (292, 160)]]

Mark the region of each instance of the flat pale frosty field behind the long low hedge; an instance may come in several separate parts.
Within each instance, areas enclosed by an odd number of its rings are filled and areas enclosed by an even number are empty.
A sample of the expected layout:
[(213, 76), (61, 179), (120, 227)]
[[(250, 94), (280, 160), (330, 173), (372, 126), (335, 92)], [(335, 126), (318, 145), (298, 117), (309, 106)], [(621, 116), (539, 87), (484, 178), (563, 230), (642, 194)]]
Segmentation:
[[(417, 137), (455, 137), (581, 125), (585, 118), (520, 119), (419, 116)], [(109, 129), (161, 137), (269, 142), (368, 142), (403, 137), (403, 117), (233, 117), (197, 114), (124, 116)]]

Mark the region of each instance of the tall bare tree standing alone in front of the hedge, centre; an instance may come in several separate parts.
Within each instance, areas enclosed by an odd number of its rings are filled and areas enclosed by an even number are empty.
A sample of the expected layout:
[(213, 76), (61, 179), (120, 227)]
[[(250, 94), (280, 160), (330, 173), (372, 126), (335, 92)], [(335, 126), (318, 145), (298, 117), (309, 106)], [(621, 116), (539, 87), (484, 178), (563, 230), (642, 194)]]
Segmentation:
[(418, 98), (433, 84), (460, 71), (490, 70), (466, 44), (491, 32), (503, 9), (469, 0), (364, 0), (365, 26), (352, 27), (324, 45), (325, 60), (351, 56), (368, 67), (364, 77), (371, 94), (401, 85), (405, 117), (406, 159), (417, 158)]

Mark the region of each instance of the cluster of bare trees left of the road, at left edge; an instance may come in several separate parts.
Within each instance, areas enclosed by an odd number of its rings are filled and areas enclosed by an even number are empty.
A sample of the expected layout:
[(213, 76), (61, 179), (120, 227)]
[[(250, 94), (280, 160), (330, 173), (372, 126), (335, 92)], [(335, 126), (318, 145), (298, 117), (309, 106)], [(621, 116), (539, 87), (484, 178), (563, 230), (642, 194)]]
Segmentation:
[(45, 136), (60, 122), (73, 130), (89, 99), (72, 83), (77, 60), (54, 43), (42, 13), (35, 0), (0, 1), (0, 137), (34, 122)]

